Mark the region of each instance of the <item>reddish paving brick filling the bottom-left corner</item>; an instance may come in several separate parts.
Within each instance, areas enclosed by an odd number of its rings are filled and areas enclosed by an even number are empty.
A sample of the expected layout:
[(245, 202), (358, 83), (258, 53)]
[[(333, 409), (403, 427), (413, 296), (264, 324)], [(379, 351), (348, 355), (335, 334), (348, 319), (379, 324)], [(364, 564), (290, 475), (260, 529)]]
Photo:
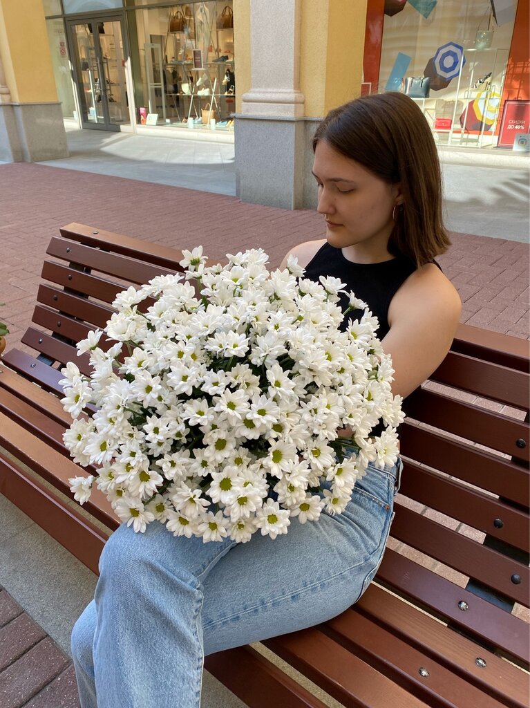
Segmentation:
[(42, 639), (0, 673), (1, 708), (21, 708), (62, 673), (69, 663), (69, 658), (50, 637)]

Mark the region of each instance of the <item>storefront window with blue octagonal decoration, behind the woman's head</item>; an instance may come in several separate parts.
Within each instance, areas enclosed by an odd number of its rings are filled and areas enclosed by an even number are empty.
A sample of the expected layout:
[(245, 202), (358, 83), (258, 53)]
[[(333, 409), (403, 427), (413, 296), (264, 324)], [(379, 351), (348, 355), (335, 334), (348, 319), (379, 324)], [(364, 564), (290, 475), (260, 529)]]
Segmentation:
[(515, 4), (386, 0), (379, 91), (403, 91), (440, 143), (497, 144)]

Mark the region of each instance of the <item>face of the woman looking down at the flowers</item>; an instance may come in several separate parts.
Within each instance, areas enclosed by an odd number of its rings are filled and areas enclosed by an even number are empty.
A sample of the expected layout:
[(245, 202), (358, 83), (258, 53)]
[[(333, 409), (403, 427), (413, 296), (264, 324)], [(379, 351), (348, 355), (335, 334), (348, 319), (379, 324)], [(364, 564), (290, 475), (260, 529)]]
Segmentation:
[(316, 145), (313, 175), (328, 243), (358, 263), (390, 258), (393, 207), (403, 202), (400, 185), (384, 182), (324, 140)]

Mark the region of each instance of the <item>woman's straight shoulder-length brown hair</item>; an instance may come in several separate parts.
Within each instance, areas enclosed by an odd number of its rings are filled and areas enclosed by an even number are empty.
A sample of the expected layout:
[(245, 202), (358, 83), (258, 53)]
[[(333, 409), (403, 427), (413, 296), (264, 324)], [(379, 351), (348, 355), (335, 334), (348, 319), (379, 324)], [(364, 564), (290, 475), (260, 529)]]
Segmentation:
[(432, 132), (419, 106), (403, 93), (373, 93), (330, 110), (313, 137), (325, 140), (388, 184), (401, 183), (403, 205), (388, 250), (416, 265), (451, 245), (442, 218), (442, 176)]

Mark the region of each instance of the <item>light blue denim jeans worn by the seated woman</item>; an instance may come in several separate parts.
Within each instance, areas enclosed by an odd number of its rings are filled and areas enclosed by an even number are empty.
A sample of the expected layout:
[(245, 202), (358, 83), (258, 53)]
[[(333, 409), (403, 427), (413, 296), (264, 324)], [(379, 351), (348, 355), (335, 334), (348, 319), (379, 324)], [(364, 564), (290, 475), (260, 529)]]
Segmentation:
[(369, 586), (393, 518), (401, 461), (369, 467), (344, 513), (287, 535), (174, 537), (120, 526), (72, 632), (82, 708), (199, 708), (204, 655), (312, 627)]

